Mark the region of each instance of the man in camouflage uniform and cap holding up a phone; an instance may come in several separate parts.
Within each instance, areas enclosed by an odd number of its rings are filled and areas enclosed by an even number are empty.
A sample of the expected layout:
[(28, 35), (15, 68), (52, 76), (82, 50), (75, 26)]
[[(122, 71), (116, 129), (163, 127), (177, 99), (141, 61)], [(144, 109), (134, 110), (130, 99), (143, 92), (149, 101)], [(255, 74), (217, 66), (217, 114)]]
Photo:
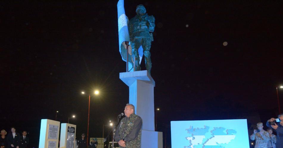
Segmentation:
[(258, 130), (254, 130), (251, 135), (251, 140), (256, 140), (254, 148), (267, 148), (268, 141), (270, 140), (267, 131), (263, 130), (262, 122), (256, 124)]

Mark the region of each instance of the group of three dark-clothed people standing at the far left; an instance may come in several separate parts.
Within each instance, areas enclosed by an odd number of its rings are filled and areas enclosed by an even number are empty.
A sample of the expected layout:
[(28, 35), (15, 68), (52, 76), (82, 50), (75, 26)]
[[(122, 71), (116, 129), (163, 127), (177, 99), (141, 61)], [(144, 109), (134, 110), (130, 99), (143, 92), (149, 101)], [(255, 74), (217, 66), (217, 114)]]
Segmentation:
[(7, 135), (7, 131), (1, 130), (0, 148), (27, 148), (27, 144), (29, 144), (27, 131), (23, 131), (20, 135), (14, 127), (11, 127)]

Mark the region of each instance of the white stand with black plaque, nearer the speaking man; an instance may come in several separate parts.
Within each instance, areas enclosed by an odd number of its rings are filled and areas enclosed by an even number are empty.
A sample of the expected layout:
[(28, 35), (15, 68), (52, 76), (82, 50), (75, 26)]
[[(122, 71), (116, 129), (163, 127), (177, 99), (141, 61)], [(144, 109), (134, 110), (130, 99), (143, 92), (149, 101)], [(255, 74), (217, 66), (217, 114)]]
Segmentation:
[(62, 123), (60, 135), (60, 148), (77, 148), (75, 147), (77, 125)]

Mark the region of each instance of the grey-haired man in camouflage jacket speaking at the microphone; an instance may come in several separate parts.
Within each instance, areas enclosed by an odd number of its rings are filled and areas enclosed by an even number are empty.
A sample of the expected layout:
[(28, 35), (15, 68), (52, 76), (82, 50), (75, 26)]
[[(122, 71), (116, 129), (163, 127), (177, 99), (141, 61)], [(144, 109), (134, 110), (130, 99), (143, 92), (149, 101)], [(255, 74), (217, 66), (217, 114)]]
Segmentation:
[(124, 113), (126, 117), (117, 126), (114, 140), (120, 147), (140, 148), (142, 119), (135, 114), (132, 104), (126, 104)]

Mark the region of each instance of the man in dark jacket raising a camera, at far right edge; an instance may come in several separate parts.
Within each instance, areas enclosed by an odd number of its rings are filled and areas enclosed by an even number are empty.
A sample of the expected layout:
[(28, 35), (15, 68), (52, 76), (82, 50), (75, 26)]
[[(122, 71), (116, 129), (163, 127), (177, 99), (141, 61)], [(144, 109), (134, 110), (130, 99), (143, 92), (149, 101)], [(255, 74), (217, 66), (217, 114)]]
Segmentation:
[(276, 147), (283, 147), (283, 114), (279, 114), (277, 120), (278, 122), (275, 118), (267, 120), (266, 126), (273, 128), (277, 133)]

